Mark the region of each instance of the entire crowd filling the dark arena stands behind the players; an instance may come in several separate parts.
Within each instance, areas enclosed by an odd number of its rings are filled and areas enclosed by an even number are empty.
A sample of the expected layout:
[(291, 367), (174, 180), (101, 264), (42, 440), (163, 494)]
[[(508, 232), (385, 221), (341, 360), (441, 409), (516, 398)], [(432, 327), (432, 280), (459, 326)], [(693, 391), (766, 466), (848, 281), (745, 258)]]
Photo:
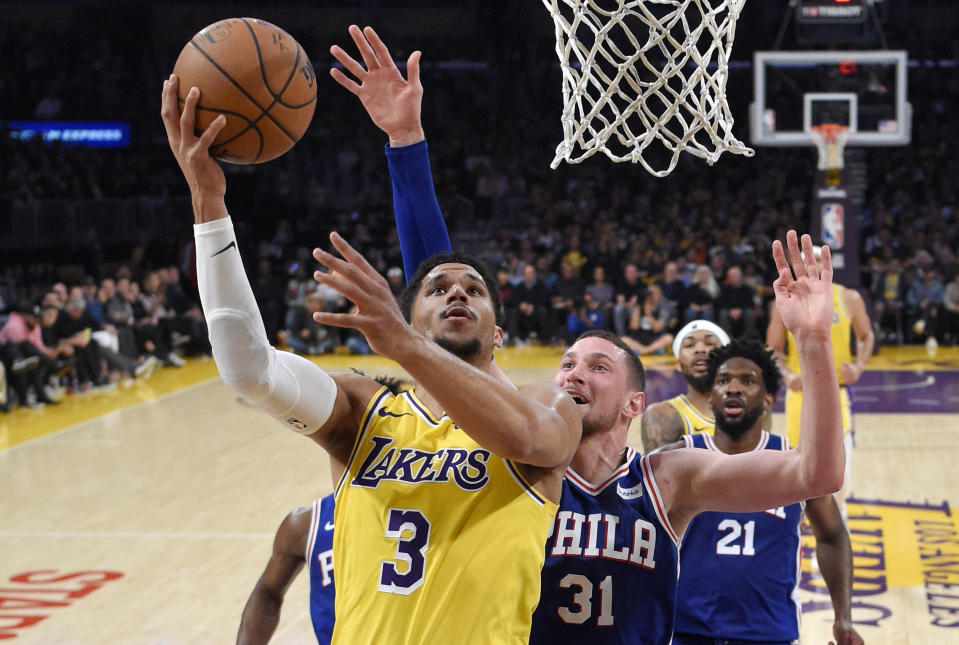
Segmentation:
[[(403, 40), (382, 32), (391, 44)], [(5, 213), (42, 200), (184, 199), (158, 117), (169, 70), (156, 61), (169, 57), (136, 53), (142, 43), (129, 39), (88, 40), (78, 45), (81, 58), (97, 60), (106, 78), (91, 93), (77, 91), (74, 75), (51, 71), (69, 68), (75, 50), (34, 42), (0, 23), (0, 44), (17, 54), (0, 69), (0, 104), (9, 111), (0, 117), (129, 120), (133, 144), (94, 151), (21, 142), (0, 126), (0, 229), (9, 225)], [(754, 158), (726, 155), (712, 167), (689, 158), (664, 179), (595, 157), (551, 170), (561, 92), (549, 40), (460, 68), (431, 66), (437, 61), (423, 49), (423, 120), (439, 201), (454, 246), (495, 269), (511, 344), (563, 343), (599, 327), (652, 353), (693, 318), (715, 320), (732, 336), (763, 335), (775, 277), (770, 243), (807, 227), (813, 149), (761, 148)], [(542, 62), (524, 63), (520, 76), (517, 60)], [(307, 134), (269, 164), (225, 166), (227, 205), (271, 341), (304, 354), (366, 353), (361, 336), (312, 321), (311, 311), (350, 304), (312, 280), (311, 249), (336, 229), (395, 292), (402, 288), (385, 138), (355, 97), (326, 78), (329, 61), (315, 56), (314, 65), (327, 86)], [(959, 114), (950, 109), (959, 103), (959, 67), (909, 74), (913, 143), (866, 151), (861, 275), (847, 286), (869, 303), (880, 342), (949, 344), (959, 335), (959, 161), (951, 136)], [(30, 82), (20, 84), (22, 77)], [(728, 95), (744, 140), (750, 82), (748, 70), (731, 71)], [(42, 402), (51, 377), (82, 391), (151, 358), (175, 364), (183, 352), (208, 351), (183, 203), (182, 226), (125, 246), (78, 241), (54, 249), (40, 240), (35, 250), (8, 249), (0, 312), (32, 337), (35, 318), (44, 348), (32, 361), (22, 339), (19, 350), (4, 346), (9, 381), (21, 383), (11, 388), (23, 390), (18, 398)], [(59, 282), (66, 288), (53, 289)], [(102, 343), (94, 332), (103, 332)], [(95, 352), (86, 349), (93, 343)]]

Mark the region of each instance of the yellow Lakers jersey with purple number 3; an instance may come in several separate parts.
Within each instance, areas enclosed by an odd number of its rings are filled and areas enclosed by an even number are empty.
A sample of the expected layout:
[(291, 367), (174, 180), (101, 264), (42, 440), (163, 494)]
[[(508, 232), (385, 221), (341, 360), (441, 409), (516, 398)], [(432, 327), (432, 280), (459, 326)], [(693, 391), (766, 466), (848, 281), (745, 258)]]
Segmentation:
[(335, 494), (334, 644), (528, 642), (556, 504), (512, 462), (384, 388)]

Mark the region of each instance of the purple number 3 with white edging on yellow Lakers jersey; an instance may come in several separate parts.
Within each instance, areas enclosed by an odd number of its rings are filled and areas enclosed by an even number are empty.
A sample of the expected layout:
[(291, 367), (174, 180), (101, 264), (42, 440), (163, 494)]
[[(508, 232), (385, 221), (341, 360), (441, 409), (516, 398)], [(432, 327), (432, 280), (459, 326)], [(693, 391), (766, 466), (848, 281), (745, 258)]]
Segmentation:
[[(379, 591), (406, 596), (423, 584), (430, 527), (429, 520), (416, 509), (390, 509), (385, 535), (396, 540), (396, 559), (383, 560), (377, 586)], [(398, 562), (403, 565), (397, 567)]]

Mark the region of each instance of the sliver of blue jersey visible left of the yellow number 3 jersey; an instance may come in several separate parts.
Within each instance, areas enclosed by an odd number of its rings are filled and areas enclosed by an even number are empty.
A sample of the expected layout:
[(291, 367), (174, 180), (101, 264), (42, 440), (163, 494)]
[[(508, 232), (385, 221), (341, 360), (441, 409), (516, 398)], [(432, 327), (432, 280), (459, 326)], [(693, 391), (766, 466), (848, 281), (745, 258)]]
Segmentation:
[(333, 637), (333, 495), (313, 502), (310, 535), (306, 542), (310, 572), (310, 618), (320, 645)]

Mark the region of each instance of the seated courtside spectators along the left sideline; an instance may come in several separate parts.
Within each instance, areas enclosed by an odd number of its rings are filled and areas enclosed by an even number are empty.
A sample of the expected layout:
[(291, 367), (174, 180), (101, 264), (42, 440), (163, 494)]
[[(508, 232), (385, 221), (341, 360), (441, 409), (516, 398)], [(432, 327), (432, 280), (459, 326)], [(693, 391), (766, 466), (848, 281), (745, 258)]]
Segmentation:
[(200, 307), (175, 266), (148, 271), (142, 287), (126, 268), (100, 281), (54, 282), (7, 309), (0, 316), (3, 411), (128, 385), (159, 366), (182, 367), (183, 355), (210, 353)]

